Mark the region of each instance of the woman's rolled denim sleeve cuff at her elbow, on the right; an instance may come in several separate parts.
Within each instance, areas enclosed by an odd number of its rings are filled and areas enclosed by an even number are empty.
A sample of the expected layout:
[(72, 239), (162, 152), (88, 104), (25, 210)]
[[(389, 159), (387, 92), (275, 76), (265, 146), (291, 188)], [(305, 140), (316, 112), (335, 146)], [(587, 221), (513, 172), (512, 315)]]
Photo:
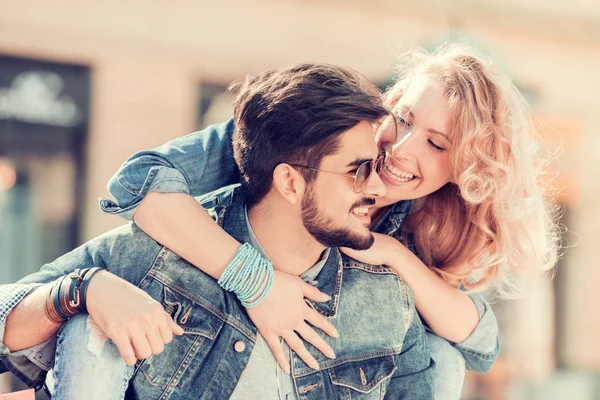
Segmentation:
[(469, 297), (477, 307), (479, 323), (468, 338), (454, 343), (454, 347), (463, 355), (467, 370), (483, 374), (492, 368), (500, 350), (498, 321), (483, 295), (472, 294)]

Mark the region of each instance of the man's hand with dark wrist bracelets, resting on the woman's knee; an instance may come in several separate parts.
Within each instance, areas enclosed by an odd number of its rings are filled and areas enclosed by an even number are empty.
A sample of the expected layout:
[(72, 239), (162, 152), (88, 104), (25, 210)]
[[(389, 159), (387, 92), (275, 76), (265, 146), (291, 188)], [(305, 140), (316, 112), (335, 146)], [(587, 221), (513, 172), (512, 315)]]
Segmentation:
[(107, 271), (98, 272), (87, 291), (87, 309), (98, 327), (115, 342), (127, 365), (161, 353), (173, 334), (183, 335), (148, 293)]

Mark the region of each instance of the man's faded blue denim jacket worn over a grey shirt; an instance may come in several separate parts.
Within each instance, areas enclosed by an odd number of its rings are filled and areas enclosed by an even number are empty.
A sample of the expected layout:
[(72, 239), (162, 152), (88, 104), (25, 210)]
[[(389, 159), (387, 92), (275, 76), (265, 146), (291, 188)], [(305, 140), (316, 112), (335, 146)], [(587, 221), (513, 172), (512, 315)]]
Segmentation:
[[(248, 241), (239, 186), (200, 201), (226, 232)], [(135, 397), (229, 398), (250, 358), (256, 327), (234, 294), (135, 224), (85, 243), (15, 285), (49, 282), (92, 266), (138, 285), (185, 330), (163, 353), (140, 363), (132, 379)], [(328, 359), (307, 346), (320, 364), (313, 370), (293, 354), (291, 373), (298, 398), (431, 399), (435, 364), (414, 297), (402, 279), (390, 268), (363, 264), (334, 250), (316, 281), (332, 298), (312, 306), (340, 332), (339, 339), (321, 333), (337, 358)], [(239, 341), (245, 343), (241, 352), (234, 346)], [(0, 359), (6, 361), (5, 356)]]

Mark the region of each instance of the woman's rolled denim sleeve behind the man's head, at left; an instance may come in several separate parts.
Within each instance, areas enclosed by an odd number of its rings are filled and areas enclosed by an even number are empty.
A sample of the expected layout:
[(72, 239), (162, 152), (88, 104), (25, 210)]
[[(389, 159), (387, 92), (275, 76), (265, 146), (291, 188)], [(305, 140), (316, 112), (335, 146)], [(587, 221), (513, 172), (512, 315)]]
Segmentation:
[(131, 156), (110, 179), (114, 200), (100, 199), (107, 214), (131, 220), (149, 192), (200, 196), (239, 182), (233, 158), (233, 119)]

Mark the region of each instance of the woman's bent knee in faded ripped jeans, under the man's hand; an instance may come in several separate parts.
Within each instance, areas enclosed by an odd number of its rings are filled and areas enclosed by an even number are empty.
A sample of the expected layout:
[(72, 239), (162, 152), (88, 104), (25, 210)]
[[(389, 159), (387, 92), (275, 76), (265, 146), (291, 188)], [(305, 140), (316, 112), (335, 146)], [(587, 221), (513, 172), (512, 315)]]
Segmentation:
[(53, 399), (122, 399), (134, 367), (87, 314), (76, 315), (58, 332)]

